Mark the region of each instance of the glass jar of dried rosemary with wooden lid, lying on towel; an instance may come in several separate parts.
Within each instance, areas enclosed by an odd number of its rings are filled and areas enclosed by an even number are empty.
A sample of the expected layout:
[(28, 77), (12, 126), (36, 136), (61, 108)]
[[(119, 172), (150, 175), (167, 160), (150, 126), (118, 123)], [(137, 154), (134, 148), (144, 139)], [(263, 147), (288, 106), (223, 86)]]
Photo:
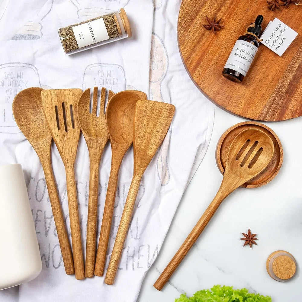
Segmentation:
[(124, 8), (111, 14), (59, 28), (58, 32), (66, 55), (132, 37)]

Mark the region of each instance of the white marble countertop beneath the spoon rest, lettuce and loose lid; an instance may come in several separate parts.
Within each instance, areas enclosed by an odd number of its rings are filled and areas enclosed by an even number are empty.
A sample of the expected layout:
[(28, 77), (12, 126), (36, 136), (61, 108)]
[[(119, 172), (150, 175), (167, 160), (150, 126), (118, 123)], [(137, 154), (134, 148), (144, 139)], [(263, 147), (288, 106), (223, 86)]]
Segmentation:
[[(215, 284), (249, 288), (270, 295), (273, 302), (301, 301), (302, 265), (302, 119), (265, 123), (279, 136), (284, 161), (279, 174), (261, 188), (239, 188), (218, 209), (196, 244), (175, 271), (169, 283), (153, 288), (192, 227), (214, 198), (221, 180), (215, 148), (221, 134), (244, 119), (216, 107), (214, 130), (207, 154), (194, 175), (175, 214), (164, 245), (143, 282), (139, 302), (174, 301), (181, 293)], [(243, 247), (241, 232), (257, 233), (258, 246)], [(290, 252), (297, 261), (297, 273), (288, 282), (268, 276), (265, 262), (276, 250)]]

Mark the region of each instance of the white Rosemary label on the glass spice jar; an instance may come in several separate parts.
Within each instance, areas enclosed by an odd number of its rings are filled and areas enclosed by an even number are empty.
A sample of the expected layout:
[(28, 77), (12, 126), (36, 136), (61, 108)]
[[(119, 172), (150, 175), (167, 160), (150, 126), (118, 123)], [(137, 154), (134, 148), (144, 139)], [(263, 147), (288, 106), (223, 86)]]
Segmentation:
[(103, 18), (72, 27), (79, 48), (109, 40)]

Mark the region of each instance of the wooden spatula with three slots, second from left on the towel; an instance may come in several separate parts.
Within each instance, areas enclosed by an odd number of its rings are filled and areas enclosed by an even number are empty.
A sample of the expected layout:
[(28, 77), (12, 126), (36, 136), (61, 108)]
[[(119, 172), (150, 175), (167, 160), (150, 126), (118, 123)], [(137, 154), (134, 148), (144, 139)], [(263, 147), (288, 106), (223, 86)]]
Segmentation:
[(66, 170), (73, 262), (76, 279), (85, 278), (74, 162), (80, 137), (77, 104), (81, 89), (42, 90), (44, 115)]

